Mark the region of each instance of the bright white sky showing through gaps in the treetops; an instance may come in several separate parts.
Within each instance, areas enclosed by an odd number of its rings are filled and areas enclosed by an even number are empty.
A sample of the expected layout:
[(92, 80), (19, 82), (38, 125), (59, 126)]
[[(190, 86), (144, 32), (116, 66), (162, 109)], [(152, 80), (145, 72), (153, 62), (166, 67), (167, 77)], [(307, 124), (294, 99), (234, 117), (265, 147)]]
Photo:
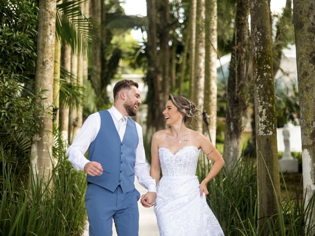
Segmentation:
[[(126, 15), (147, 15), (147, 4), (146, 0), (125, 0), (124, 3), (121, 3), (125, 8)], [(271, 0), (270, 9), (274, 12), (282, 12), (282, 8), (285, 6), (285, 0)], [(131, 35), (134, 39), (141, 40), (142, 34), (140, 29), (138, 31), (132, 29)]]

